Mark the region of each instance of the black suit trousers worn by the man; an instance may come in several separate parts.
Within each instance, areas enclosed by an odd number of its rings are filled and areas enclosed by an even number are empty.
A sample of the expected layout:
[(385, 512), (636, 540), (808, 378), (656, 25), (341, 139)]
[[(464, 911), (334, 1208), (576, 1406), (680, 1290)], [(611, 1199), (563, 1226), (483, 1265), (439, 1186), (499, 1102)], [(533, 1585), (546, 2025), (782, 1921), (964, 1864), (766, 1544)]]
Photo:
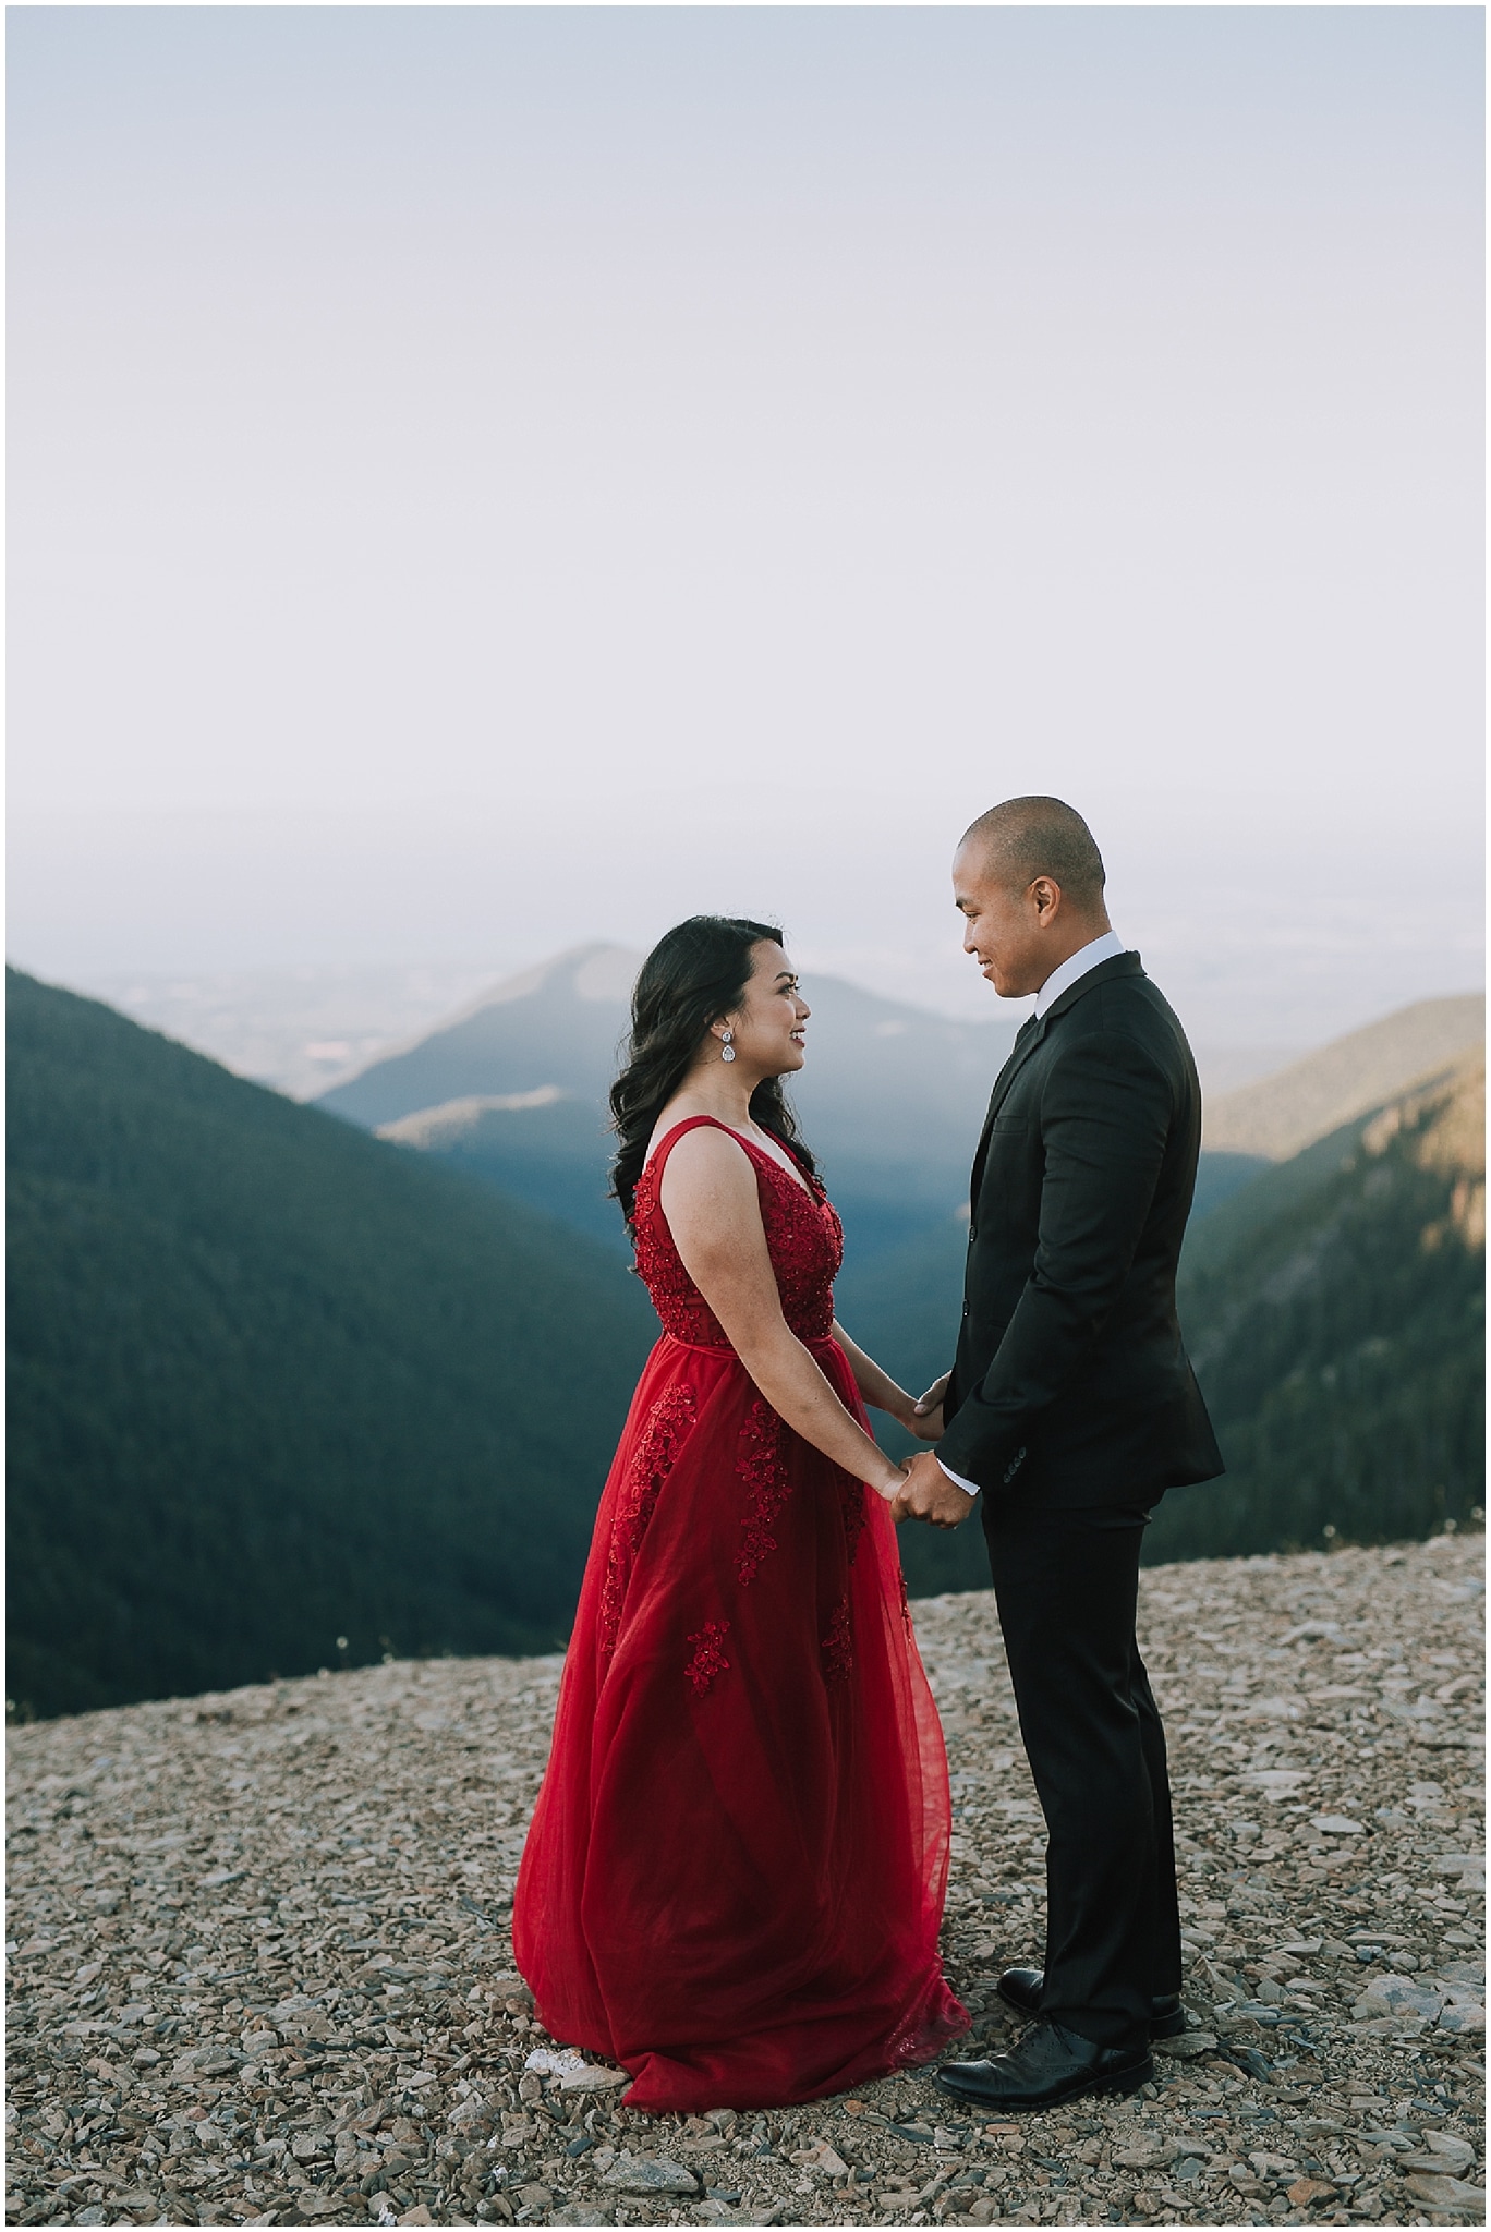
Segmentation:
[(1098, 2047), (1147, 2036), (1181, 1989), (1170, 1772), (1138, 1656), (1154, 1498), (1089, 1511), (984, 1493), (1020, 1734), (1047, 1817), (1042, 2015)]

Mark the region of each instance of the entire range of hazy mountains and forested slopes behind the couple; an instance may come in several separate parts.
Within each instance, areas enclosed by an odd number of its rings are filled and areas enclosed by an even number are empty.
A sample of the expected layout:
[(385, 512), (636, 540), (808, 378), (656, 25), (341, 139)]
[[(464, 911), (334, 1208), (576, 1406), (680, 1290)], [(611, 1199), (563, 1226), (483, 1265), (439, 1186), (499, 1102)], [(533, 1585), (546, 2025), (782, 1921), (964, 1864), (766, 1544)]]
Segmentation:
[[(562, 1638), (656, 1335), (605, 1199), (632, 964), (560, 955), (317, 1107), (11, 973), (22, 1712)], [(839, 1315), (924, 1386), (1011, 1029), (812, 1002)], [(1156, 1558), (1415, 1536), (1484, 1495), (1480, 1004), (1274, 1087), (1210, 1107), (1181, 1310), (1230, 1471), (1165, 1500)], [(908, 1527), (902, 1558), (913, 1594), (987, 1576), (975, 1527)]]

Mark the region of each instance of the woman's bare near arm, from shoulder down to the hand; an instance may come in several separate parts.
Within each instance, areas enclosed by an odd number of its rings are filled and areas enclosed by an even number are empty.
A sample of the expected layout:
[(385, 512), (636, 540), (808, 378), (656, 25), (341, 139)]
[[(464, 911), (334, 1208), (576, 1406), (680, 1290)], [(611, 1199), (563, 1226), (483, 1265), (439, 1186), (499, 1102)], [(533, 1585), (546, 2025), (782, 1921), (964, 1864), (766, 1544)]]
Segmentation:
[(848, 1415), (781, 1315), (746, 1149), (712, 1127), (685, 1134), (667, 1158), (661, 1199), (683, 1268), (772, 1411), (891, 1500), (906, 1478), (902, 1466)]

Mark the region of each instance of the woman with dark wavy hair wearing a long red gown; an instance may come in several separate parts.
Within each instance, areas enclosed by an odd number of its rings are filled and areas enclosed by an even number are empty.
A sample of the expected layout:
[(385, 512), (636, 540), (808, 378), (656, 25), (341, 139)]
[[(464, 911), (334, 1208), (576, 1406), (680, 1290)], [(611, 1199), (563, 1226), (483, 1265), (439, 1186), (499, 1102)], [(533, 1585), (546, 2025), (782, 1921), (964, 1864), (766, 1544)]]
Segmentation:
[(663, 1319), (596, 1516), (513, 1944), (641, 2109), (777, 2107), (929, 2060), (949, 1783), (839, 1219), (781, 1096), (808, 1007), (761, 922), (647, 955), (614, 1192)]

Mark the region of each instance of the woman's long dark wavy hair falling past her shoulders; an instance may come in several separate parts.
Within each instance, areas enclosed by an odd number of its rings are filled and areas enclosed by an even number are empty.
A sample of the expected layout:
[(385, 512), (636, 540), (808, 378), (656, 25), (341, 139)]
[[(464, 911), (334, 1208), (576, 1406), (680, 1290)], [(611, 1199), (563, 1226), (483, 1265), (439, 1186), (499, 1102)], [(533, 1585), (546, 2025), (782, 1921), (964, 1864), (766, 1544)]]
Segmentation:
[[(647, 1161), (647, 1141), (658, 1114), (687, 1076), (699, 1042), (712, 1022), (730, 1016), (746, 998), (752, 949), (781, 944), (772, 922), (739, 915), (690, 915), (647, 955), (632, 989), (632, 1038), (627, 1065), (612, 1085), (612, 1129), (621, 1145), (612, 1163), (612, 1199), (632, 1230), (636, 1181)], [(812, 1174), (817, 1163), (797, 1134), (797, 1118), (781, 1091), (781, 1078), (763, 1078), (750, 1096), (750, 1114), (763, 1132), (797, 1156)]]

